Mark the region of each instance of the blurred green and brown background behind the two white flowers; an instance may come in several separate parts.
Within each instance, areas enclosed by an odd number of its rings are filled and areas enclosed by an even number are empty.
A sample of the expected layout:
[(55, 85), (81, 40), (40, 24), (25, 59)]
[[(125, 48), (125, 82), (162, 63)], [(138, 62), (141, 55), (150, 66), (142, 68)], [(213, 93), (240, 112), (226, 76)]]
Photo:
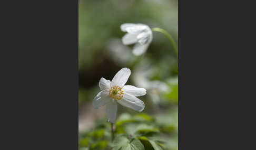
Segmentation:
[[(132, 54), (133, 45), (122, 44), (125, 33), (120, 29), (124, 23), (159, 27), (178, 44), (178, 0), (80, 0), (78, 22), (80, 148), (107, 149), (108, 144), (102, 143), (105, 134), (108, 138), (107, 130), (98, 139), (98, 146), (95, 141), (86, 140), (89, 132), (107, 121), (105, 106), (94, 110), (92, 101), (100, 92), (101, 77), (112, 80), (117, 71), (127, 67), (131, 76), (126, 84), (147, 90), (146, 95), (139, 97), (145, 103), (139, 116), (154, 121), (141, 123), (154, 126), (171, 140), (165, 149), (178, 149), (178, 60), (171, 42), (163, 34), (153, 32), (146, 53), (137, 57)], [(131, 120), (137, 115), (138, 112), (118, 105), (117, 121)]]

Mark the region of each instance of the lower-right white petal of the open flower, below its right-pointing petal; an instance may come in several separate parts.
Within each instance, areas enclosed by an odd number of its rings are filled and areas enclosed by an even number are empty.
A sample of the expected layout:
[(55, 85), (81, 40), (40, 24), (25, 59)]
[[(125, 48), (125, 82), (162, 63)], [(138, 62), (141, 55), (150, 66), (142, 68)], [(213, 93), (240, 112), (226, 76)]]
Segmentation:
[(117, 100), (117, 102), (123, 106), (126, 106), (127, 108), (139, 112), (143, 111), (145, 108), (145, 104), (140, 99), (128, 93), (124, 93), (124, 97), (121, 100)]

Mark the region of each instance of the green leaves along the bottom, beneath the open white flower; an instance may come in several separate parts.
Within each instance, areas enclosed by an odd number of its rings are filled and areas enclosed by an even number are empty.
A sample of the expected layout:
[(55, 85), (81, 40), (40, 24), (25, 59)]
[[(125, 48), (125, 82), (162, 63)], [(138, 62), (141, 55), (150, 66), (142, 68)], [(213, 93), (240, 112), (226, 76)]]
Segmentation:
[[(111, 142), (108, 122), (99, 120), (93, 130), (80, 132), (80, 149), (177, 149), (178, 110), (169, 115), (153, 117), (138, 113), (123, 113), (116, 121), (115, 139)], [(171, 129), (171, 130), (170, 130)]]

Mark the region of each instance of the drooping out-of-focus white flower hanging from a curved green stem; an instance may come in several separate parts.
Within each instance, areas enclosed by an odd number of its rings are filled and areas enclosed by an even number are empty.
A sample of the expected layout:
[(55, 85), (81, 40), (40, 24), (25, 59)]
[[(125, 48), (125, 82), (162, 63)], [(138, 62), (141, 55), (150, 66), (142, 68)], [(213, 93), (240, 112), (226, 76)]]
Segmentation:
[(122, 24), (121, 30), (127, 32), (122, 38), (124, 45), (135, 44), (133, 54), (142, 55), (149, 47), (153, 35), (149, 26), (144, 24)]

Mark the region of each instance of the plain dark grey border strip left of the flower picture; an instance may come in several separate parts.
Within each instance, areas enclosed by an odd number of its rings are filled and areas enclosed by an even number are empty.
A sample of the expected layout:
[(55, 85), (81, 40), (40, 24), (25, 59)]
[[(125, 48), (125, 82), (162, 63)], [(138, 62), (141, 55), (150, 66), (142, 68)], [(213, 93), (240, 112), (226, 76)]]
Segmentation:
[(78, 149), (78, 0), (3, 3), (0, 149)]

